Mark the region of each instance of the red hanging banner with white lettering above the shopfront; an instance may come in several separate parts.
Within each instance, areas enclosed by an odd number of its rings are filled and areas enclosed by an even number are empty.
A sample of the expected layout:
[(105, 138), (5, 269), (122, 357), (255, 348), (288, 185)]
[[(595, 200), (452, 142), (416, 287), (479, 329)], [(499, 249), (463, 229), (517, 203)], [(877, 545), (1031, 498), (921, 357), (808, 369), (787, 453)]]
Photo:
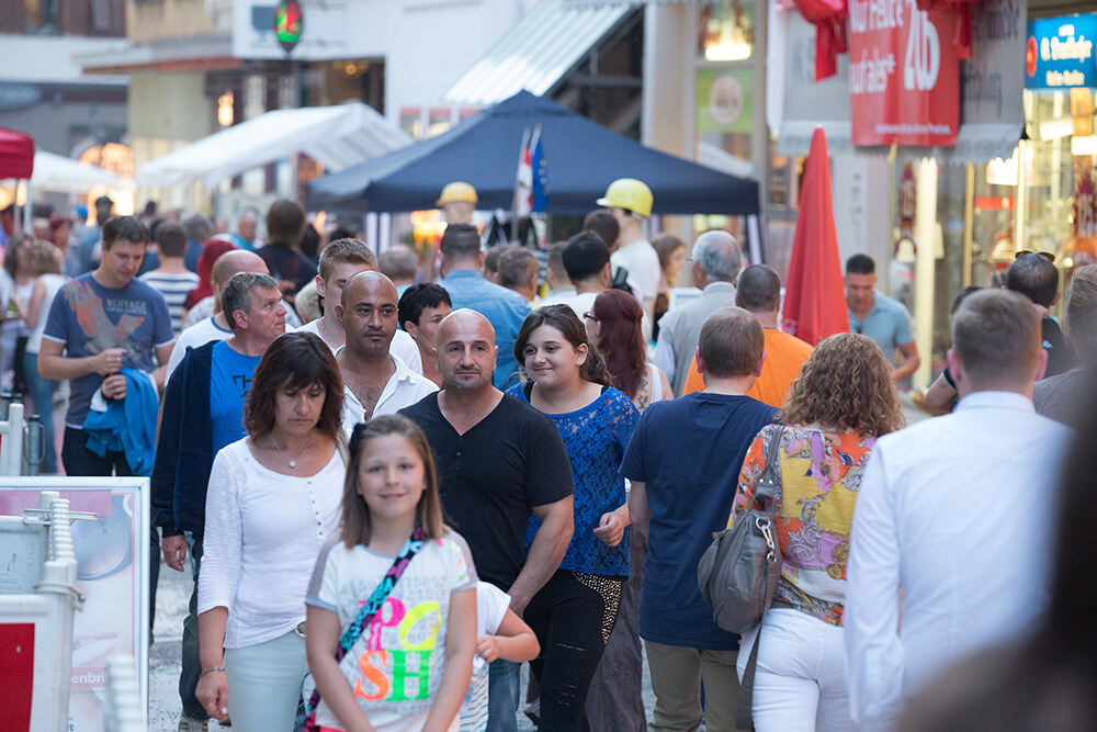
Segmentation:
[(849, 0), (855, 145), (955, 145), (955, 23), (954, 13), (927, 13), (915, 0)]

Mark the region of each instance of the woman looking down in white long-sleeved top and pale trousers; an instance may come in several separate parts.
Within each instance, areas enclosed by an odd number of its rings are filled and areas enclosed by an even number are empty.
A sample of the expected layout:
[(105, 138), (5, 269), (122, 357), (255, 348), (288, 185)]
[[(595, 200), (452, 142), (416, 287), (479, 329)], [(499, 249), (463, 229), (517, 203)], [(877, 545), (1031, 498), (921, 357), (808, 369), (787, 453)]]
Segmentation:
[(292, 730), (308, 672), (305, 588), (338, 534), (346, 476), (343, 385), (331, 350), (289, 333), (256, 368), (247, 437), (217, 453), (199, 575), (195, 696), (244, 732)]

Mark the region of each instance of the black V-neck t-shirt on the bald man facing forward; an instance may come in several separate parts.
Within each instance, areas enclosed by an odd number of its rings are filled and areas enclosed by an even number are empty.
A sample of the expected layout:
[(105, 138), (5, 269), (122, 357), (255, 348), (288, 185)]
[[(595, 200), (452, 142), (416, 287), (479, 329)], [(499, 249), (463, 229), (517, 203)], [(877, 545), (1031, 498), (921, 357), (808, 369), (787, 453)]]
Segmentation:
[(572, 463), (553, 421), (512, 396), (464, 435), (438, 407), (438, 394), (400, 414), (427, 433), (446, 522), (473, 552), (476, 574), (508, 590), (525, 563), (533, 506), (572, 495)]

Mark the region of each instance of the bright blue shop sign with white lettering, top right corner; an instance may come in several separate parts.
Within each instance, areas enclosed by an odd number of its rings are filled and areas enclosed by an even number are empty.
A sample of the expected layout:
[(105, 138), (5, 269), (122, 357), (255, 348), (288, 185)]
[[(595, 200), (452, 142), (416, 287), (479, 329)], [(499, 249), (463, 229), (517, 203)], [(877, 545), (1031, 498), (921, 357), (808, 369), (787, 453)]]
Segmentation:
[(1025, 86), (1029, 89), (1097, 87), (1097, 13), (1029, 22)]

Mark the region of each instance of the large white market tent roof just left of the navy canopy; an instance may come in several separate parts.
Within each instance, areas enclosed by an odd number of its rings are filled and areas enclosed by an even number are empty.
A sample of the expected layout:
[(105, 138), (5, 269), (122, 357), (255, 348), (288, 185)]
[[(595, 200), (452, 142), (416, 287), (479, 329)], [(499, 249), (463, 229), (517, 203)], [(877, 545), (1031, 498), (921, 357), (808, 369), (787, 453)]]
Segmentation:
[(179, 185), (201, 180), (212, 188), (295, 153), (337, 171), (410, 142), (407, 133), (361, 103), (276, 110), (146, 162), (137, 181)]

